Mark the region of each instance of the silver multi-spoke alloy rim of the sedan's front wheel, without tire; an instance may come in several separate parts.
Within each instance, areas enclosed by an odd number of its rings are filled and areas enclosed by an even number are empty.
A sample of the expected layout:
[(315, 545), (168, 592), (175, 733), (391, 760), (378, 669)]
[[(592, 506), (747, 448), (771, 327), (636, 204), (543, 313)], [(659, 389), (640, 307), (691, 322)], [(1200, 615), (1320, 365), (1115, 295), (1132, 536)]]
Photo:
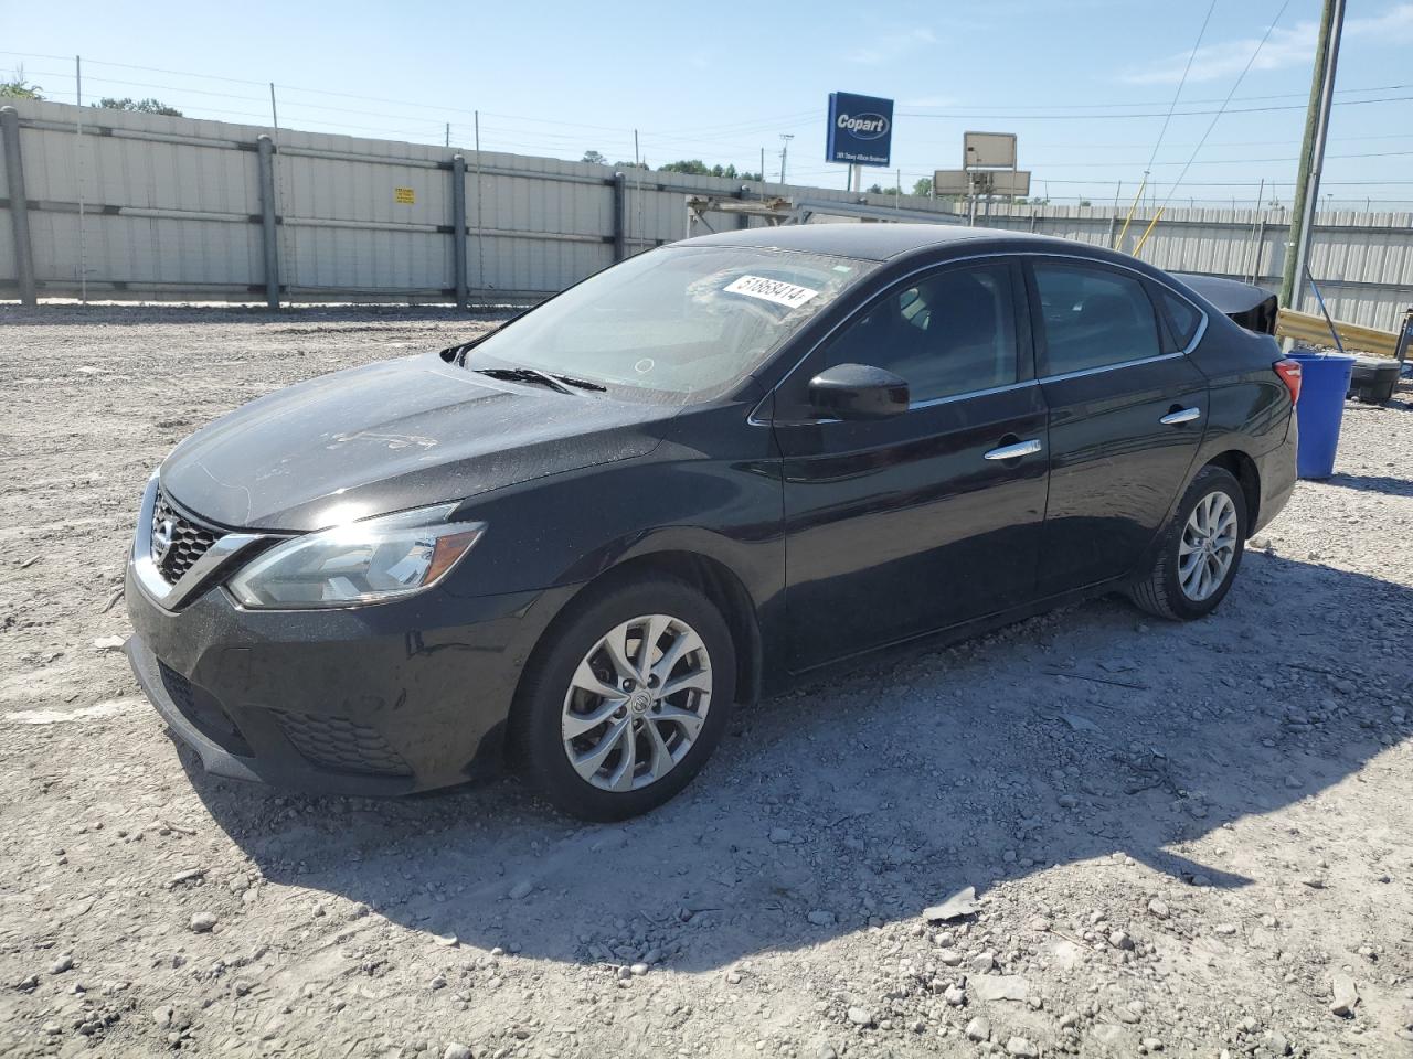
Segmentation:
[(602, 791), (636, 791), (691, 753), (711, 710), (706, 644), (667, 614), (625, 621), (574, 671), (564, 696), (564, 753)]

